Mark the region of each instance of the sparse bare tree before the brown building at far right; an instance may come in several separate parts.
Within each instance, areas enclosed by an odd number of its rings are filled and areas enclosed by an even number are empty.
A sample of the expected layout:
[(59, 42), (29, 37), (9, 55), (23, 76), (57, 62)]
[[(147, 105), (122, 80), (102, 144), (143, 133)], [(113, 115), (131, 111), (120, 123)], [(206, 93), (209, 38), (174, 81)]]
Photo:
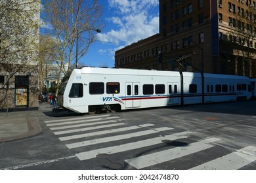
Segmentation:
[[(256, 12), (253, 7), (247, 10), (238, 10), (235, 18), (229, 19), (230, 41), (233, 43), (236, 62), (240, 62), (240, 74), (251, 77), (253, 75), (253, 65), (256, 64)], [(239, 64), (239, 63), (238, 63)]]

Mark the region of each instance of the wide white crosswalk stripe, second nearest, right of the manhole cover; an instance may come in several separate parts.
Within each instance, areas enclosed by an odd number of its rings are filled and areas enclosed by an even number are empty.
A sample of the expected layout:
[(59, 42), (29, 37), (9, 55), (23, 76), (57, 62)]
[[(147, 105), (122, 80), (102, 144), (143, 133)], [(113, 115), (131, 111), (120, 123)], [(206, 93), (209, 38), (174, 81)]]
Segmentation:
[[(209, 139), (210, 142), (217, 140), (219, 139)], [(125, 162), (129, 163), (129, 165), (135, 167), (136, 169), (142, 169), (144, 167), (163, 163), (172, 159), (181, 158), (182, 156), (193, 154), (195, 152), (200, 152), (211, 147), (213, 147), (213, 145), (211, 144), (207, 144), (204, 142), (194, 142), (192, 144), (188, 144), (188, 146), (179, 146), (176, 148), (163, 150), (161, 152), (155, 152), (152, 154), (139, 156), (137, 158), (125, 159)]]

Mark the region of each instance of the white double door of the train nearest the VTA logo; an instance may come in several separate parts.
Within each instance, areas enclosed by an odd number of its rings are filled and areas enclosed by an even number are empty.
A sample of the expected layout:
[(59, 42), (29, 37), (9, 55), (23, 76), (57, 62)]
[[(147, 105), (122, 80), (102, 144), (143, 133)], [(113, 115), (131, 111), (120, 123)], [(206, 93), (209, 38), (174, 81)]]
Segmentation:
[(125, 108), (140, 107), (139, 95), (139, 82), (125, 82)]

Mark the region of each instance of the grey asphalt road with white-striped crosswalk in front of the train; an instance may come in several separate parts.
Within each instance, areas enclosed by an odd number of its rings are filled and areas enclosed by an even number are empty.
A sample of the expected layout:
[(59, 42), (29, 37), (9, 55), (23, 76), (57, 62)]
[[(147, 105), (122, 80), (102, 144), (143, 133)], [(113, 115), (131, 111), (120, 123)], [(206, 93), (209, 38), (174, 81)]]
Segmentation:
[(256, 101), (81, 115), (39, 111), (0, 169), (256, 169)]

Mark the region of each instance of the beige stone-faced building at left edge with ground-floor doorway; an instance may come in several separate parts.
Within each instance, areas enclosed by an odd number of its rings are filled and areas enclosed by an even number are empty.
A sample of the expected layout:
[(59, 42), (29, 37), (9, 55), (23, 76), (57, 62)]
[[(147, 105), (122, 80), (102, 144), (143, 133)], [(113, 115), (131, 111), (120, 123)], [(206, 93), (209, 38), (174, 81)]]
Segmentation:
[(0, 1), (0, 111), (37, 110), (40, 0)]

